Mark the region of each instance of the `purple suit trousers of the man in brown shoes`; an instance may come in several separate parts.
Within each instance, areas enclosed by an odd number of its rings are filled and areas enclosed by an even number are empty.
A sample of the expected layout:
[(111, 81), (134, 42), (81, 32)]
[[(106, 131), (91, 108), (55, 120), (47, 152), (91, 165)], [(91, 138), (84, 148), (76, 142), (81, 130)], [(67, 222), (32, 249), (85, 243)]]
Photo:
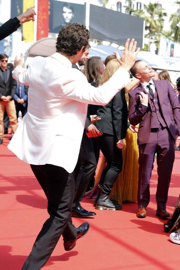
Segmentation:
[(150, 178), (154, 156), (157, 152), (158, 184), (157, 208), (166, 208), (168, 190), (175, 157), (175, 140), (168, 128), (151, 128), (149, 142), (139, 145), (139, 179), (137, 191), (138, 207), (146, 207), (150, 201)]

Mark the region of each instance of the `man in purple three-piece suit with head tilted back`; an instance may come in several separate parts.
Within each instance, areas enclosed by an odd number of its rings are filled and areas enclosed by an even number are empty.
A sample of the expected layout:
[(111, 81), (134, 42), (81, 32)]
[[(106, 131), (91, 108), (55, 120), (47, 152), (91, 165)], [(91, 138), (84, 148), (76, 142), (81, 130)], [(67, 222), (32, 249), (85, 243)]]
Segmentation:
[(160, 218), (169, 217), (166, 211), (168, 190), (174, 162), (174, 144), (180, 134), (180, 104), (167, 80), (153, 80), (154, 72), (144, 61), (136, 61), (131, 74), (140, 80), (129, 92), (129, 122), (139, 124), (139, 179), (137, 191), (138, 218), (146, 217), (150, 201), (150, 178), (154, 155), (157, 152), (158, 184), (157, 211)]

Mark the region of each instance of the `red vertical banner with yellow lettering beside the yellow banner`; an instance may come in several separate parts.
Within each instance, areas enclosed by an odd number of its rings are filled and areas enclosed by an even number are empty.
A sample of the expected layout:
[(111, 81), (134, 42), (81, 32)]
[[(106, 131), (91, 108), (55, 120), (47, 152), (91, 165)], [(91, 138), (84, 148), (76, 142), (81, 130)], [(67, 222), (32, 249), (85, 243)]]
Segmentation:
[(37, 40), (47, 38), (49, 32), (48, 0), (38, 0)]

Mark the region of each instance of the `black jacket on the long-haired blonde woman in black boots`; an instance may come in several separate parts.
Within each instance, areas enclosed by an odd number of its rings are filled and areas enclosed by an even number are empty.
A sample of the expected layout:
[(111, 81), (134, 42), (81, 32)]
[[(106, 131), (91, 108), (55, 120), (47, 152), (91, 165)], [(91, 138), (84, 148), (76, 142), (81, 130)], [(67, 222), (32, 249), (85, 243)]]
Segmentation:
[(105, 106), (90, 105), (92, 115), (98, 115), (101, 120), (94, 124), (102, 133), (114, 135), (117, 140), (124, 139), (127, 132), (128, 106), (124, 88)]

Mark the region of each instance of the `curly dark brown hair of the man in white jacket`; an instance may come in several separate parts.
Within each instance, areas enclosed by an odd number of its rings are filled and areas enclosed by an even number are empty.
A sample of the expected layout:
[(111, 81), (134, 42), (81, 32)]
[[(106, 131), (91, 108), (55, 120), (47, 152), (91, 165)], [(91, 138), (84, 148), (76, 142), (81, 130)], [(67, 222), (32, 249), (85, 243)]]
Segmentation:
[(77, 54), (84, 46), (88, 45), (90, 32), (85, 25), (79, 23), (64, 26), (57, 37), (56, 52), (63, 52), (68, 56)]

